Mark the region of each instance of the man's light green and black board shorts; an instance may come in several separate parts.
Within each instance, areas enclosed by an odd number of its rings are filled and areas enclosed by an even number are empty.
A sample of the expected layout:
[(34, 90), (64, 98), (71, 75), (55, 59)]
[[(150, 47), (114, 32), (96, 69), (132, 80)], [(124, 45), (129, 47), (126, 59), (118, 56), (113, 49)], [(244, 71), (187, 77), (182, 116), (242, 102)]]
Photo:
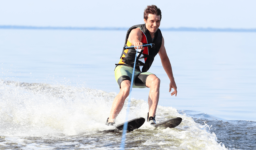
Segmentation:
[[(116, 82), (119, 85), (119, 88), (121, 88), (121, 82), (124, 80), (131, 81), (132, 79), (132, 72), (133, 68), (124, 66), (124, 65), (118, 65), (115, 68), (115, 78)], [(153, 73), (150, 72), (141, 72), (140, 70), (135, 69), (134, 71), (134, 80), (133, 80), (133, 88), (146, 88), (146, 79), (148, 75), (151, 75)]]

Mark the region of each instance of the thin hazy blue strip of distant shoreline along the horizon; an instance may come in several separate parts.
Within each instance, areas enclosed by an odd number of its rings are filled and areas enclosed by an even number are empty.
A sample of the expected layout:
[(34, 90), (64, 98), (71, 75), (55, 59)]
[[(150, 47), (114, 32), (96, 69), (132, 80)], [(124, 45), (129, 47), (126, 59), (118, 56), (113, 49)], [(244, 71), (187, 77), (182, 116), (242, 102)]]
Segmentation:
[[(125, 27), (38, 27), (38, 26), (1, 26), (0, 29), (28, 29), (28, 30), (128, 30)], [(232, 28), (160, 28), (162, 31), (192, 31), (192, 32), (256, 32), (256, 29)]]

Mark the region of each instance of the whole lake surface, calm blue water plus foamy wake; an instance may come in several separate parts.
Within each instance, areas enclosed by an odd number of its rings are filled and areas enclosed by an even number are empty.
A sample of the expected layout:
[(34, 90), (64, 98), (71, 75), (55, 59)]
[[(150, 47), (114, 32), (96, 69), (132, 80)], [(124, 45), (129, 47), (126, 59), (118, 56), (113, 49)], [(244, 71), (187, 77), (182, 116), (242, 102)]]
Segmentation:
[[(104, 124), (119, 90), (114, 64), (125, 33), (0, 30), (1, 149), (119, 149), (122, 132)], [(183, 121), (173, 129), (145, 123), (127, 133), (125, 147), (254, 149), (256, 34), (163, 35), (178, 95), (168, 93), (157, 56), (149, 70), (161, 79), (156, 119)], [(129, 119), (146, 117), (148, 91), (133, 89)], [(126, 107), (117, 124), (125, 114)]]

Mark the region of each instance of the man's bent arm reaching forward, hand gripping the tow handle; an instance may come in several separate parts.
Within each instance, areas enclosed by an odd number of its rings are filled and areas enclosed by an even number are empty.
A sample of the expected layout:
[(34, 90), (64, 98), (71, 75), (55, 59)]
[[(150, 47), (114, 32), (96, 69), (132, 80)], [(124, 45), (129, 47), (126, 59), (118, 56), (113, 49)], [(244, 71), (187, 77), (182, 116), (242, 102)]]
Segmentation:
[(133, 46), (139, 46), (138, 49), (144, 49), (141, 45), (142, 40), (142, 31), (140, 28), (132, 29), (131, 33), (129, 34), (128, 41), (132, 43)]

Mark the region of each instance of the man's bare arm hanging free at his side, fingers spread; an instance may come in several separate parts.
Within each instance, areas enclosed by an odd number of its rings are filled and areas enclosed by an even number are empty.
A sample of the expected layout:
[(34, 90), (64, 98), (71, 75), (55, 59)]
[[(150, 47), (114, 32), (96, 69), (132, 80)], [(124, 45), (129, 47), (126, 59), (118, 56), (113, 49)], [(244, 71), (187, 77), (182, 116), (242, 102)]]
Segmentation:
[(167, 53), (166, 53), (166, 50), (165, 50), (165, 47), (164, 47), (164, 37), (162, 38), (162, 45), (161, 45), (161, 48), (160, 48), (158, 54), (160, 56), (163, 68), (164, 68), (165, 72), (167, 73), (167, 76), (170, 79), (169, 92), (171, 92), (171, 90), (173, 88), (174, 91), (171, 93), (171, 95), (175, 94), (175, 96), (177, 96), (177, 86), (176, 86), (176, 83), (174, 81), (174, 77), (173, 77), (173, 73), (172, 73), (172, 66), (171, 66), (170, 60), (167, 56)]

